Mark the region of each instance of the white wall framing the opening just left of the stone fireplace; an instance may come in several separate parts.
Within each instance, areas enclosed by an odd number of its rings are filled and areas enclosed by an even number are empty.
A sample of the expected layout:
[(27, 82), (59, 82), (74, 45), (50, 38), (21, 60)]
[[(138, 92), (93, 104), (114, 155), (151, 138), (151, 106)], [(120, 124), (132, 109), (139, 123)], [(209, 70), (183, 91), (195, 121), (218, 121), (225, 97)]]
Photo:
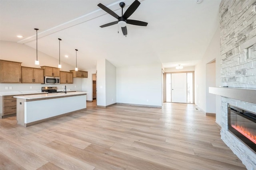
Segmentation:
[[(218, 63), (216, 62), (216, 65), (219, 65), (220, 57), (220, 27), (218, 26), (202, 60), (195, 66), (195, 104), (198, 105), (204, 113), (207, 112), (206, 103), (208, 102), (206, 99), (206, 64), (215, 59), (218, 61)], [(220, 67), (216, 66), (216, 68)], [(220, 72), (220, 69), (216, 70), (216, 72), (217, 71)], [(216, 79), (216, 82), (217, 81), (220, 80)], [(220, 124), (221, 120), (216, 119), (216, 122)]]

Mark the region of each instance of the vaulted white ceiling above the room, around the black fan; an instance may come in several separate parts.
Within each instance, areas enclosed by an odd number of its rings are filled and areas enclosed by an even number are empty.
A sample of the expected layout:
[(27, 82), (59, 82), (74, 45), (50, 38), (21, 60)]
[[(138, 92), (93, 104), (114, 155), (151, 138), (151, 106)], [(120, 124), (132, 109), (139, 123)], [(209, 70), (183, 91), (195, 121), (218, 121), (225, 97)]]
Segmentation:
[[(148, 22), (146, 27), (127, 25), (125, 37), (118, 25), (100, 25), (116, 19), (97, 4), (102, 3), (121, 16), (134, 0), (1, 0), (0, 40), (15, 41), (36, 48), (78, 68), (96, 68), (105, 58), (115, 66), (162, 63), (164, 67), (195, 65), (202, 59), (216, 28), (220, 0), (140, 0), (129, 19)], [(19, 39), (16, 35), (22, 35)], [(68, 55), (66, 58), (64, 55)], [(40, 56), (38, 56), (40, 57)]]

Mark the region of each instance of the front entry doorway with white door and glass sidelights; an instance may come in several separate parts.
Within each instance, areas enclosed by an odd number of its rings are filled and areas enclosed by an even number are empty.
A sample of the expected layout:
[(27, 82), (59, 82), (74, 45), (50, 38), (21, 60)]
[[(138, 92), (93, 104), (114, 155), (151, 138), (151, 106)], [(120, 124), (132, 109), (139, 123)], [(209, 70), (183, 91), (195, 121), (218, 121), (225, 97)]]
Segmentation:
[(166, 73), (165, 102), (194, 104), (194, 72)]

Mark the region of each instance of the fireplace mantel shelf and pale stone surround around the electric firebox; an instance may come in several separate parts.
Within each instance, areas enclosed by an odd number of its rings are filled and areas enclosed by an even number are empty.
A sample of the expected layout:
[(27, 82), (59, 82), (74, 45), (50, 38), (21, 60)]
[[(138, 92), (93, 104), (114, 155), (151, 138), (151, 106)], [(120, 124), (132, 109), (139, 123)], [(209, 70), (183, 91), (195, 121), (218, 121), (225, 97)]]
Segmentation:
[(209, 93), (222, 96), (221, 139), (248, 170), (256, 170), (256, 153), (228, 131), (228, 104), (256, 113), (256, 89), (210, 87)]

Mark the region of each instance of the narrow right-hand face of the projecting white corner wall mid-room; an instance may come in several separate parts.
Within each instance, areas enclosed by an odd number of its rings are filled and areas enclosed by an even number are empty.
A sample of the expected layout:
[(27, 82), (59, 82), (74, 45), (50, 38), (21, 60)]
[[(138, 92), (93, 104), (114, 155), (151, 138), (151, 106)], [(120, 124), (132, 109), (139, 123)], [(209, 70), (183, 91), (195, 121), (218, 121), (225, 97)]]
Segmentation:
[(106, 60), (106, 106), (116, 103), (116, 67)]

